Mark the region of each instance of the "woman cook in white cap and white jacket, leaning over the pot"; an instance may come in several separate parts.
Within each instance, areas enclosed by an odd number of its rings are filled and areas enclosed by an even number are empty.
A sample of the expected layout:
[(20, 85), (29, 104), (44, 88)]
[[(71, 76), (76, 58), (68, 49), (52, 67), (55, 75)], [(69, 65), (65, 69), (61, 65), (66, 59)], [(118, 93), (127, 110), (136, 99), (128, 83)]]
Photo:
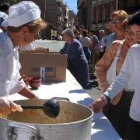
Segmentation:
[(46, 27), (40, 18), (39, 7), (31, 1), (22, 1), (9, 8), (7, 20), (0, 33), (0, 114), (21, 111), (20, 106), (8, 99), (8, 95), (19, 93), (27, 98), (37, 98), (20, 76), (18, 48), (27, 46), (36, 39), (39, 31)]

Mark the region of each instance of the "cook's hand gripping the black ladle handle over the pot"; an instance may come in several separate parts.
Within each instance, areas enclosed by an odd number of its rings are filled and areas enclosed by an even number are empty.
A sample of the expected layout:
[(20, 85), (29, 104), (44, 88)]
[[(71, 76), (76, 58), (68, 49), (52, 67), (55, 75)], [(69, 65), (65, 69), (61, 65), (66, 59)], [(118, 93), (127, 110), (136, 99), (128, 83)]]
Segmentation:
[(7, 97), (0, 97), (0, 114), (10, 114), (11, 112), (22, 112), (20, 105), (10, 101)]

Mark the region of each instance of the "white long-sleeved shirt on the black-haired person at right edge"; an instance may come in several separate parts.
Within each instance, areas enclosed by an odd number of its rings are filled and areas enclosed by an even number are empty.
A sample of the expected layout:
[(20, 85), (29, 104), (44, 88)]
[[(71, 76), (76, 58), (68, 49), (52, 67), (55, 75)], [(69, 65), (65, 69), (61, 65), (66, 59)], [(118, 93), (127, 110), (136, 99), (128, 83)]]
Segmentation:
[(133, 45), (127, 53), (120, 74), (104, 93), (111, 99), (114, 98), (132, 79), (135, 93), (131, 102), (130, 117), (140, 122), (140, 44)]

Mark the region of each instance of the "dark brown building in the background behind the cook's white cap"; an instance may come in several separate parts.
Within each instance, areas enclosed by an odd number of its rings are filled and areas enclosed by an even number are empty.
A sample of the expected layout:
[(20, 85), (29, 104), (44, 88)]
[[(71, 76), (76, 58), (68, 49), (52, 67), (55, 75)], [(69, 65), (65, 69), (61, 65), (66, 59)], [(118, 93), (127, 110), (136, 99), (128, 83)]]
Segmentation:
[[(23, 1), (23, 0), (18, 0)], [(27, 0), (28, 1), (28, 0)], [(42, 32), (43, 39), (54, 39), (65, 28), (69, 27), (69, 7), (63, 0), (32, 0), (41, 9), (41, 17), (47, 22), (47, 28)], [(76, 17), (76, 15), (75, 15)]]

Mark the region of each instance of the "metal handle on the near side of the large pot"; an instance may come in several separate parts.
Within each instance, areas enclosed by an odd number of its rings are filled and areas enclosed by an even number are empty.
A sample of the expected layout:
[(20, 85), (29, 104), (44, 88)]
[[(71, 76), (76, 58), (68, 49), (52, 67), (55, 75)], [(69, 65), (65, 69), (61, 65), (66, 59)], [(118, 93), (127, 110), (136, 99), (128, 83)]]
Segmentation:
[(8, 140), (17, 140), (18, 134), (16, 133), (16, 129), (22, 129), (22, 130), (28, 130), (28, 133), (30, 133), (30, 137), (28, 140), (39, 140), (38, 138), (38, 130), (30, 125), (23, 125), (23, 124), (15, 124), (13, 122), (10, 122), (8, 125), (8, 131), (7, 131), (7, 139)]

